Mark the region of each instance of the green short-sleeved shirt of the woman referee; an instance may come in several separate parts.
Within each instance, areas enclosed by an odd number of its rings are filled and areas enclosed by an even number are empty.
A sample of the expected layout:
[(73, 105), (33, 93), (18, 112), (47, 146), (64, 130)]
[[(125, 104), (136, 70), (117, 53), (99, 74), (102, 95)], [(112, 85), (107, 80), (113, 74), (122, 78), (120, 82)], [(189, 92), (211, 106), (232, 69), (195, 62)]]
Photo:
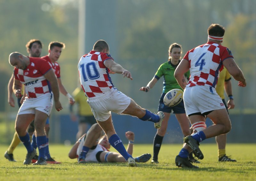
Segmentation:
[[(180, 61), (179, 61), (180, 63)], [(178, 65), (179, 65), (178, 63)], [(158, 68), (155, 78), (159, 80), (162, 76), (164, 76), (164, 87), (163, 87), (163, 93), (167, 93), (168, 91), (172, 89), (181, 89), (180, 85), (178, 84), (177, 80), (174, 77), (174, 71), (177, 68), (178, 65), (173, 65), (171, 61), (164, 62), (160, 67)], [(190, 73), (189, 71), (184, 74), (185, 77), (189, 78)]]

